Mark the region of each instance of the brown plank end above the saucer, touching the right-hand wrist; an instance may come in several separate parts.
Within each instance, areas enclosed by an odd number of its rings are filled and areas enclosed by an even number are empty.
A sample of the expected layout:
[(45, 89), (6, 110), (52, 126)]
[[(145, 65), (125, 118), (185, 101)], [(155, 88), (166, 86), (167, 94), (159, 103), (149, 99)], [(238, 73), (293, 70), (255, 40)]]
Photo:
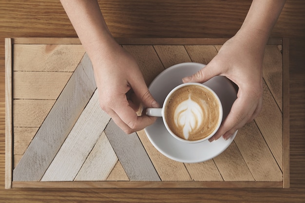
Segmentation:
[(208, 64), (217, 55), (217, 50), (213, 45), (186, 45), (185, 48), (192, 62)]

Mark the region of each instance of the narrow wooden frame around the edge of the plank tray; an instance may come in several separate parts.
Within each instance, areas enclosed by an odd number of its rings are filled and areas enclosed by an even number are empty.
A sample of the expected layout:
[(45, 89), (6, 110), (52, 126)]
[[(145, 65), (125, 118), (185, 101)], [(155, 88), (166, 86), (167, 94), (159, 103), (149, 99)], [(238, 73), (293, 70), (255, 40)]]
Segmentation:
[[(133, 45), (216, 45), (225, 38), (116, 38)], [(13, 44), (80, 44), (78, 38), (5, 38), (5, 188), (14, 187), (289, 187), (289, 40), (270, 38), (268, 44), (282, 45), (283, 54), (283, 182), (13, 182), (12, 59)]]

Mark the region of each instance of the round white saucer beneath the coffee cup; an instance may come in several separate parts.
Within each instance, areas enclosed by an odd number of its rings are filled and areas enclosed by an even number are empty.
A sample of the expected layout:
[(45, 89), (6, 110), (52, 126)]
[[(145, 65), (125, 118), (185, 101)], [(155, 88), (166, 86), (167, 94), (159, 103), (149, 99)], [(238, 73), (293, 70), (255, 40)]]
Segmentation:
[[(159, 104), (163, 104), (166, 95), (177, 85), (182, 84), (182, 78), (196, 73), (205, 67), (200, 63), (176, 64), (161, 74), (151, 83), (149, 90)], [(223, 105), (223, 119), (227, 117), (236, 99), (236, 91), (230, 81), (223, 76), (215, 76), (204, 83), (218, 95)], [(222, 137), (216, 141), (204, 141), (190, 144), (175, 139), (165, 128), (162, 118), (145, 129), (152, 145), (168, 158), (183, 163), (198, 163), (208, 161), (229, 147), (237, 131), (226, 141)]]

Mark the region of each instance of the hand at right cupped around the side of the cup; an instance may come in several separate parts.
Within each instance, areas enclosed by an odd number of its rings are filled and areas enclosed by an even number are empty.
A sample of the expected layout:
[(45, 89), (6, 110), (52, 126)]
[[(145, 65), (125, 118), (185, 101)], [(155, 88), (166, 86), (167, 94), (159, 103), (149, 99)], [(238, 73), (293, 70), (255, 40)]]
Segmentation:
[(224, 75), (239, 87), (237, 99), (227, 118), (223, 121), (210, 142), (223, 136), (229, 137), (253, 120), (262, 109), (263, 55), (265, 47), (259, 47), (255, 40), (236, 34), (219, 50), (210, 63), (184, 82), (205, 82), (215, 75)]

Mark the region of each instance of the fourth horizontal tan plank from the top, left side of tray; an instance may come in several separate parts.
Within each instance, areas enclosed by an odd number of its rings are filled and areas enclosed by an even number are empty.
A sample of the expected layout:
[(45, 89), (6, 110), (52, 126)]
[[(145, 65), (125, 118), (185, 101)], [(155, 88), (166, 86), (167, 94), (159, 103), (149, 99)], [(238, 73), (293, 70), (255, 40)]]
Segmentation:
[(14, 128), (14, 155), (23, 155), (38, 128)]

